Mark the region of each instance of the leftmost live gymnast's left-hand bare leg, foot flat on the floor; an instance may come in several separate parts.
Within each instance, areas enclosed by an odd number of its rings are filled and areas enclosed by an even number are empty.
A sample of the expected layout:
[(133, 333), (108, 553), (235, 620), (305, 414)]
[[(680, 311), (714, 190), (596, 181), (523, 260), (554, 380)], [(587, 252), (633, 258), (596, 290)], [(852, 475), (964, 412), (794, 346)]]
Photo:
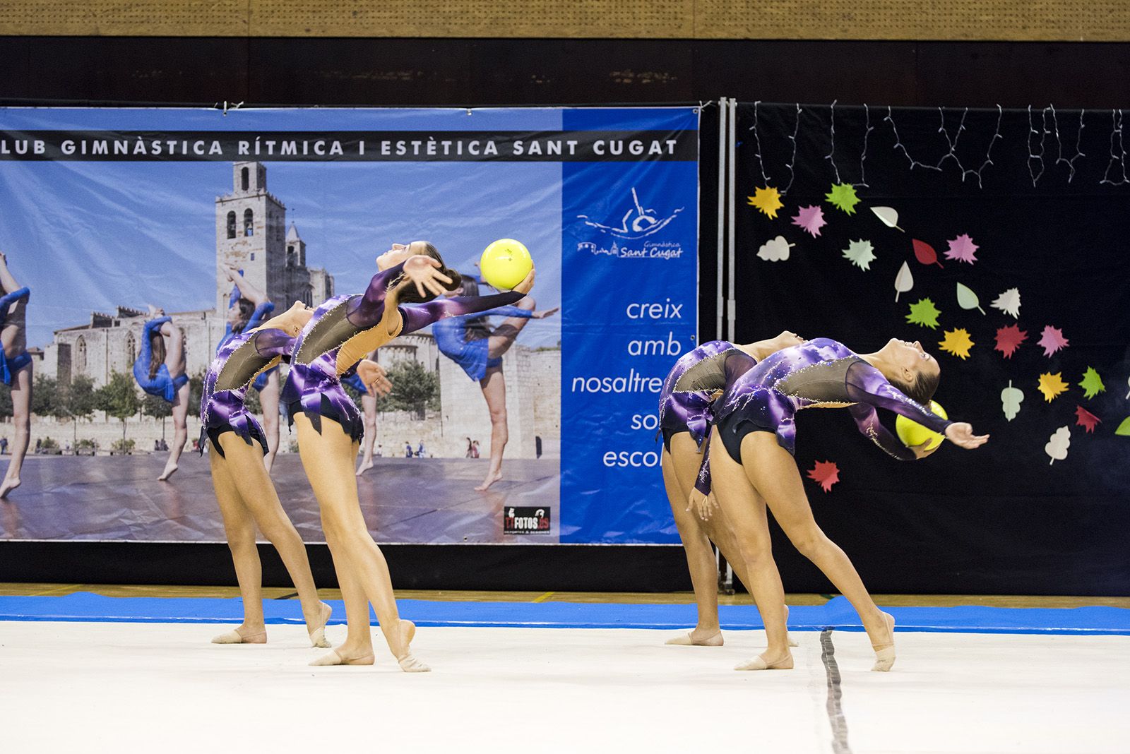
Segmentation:
[(216, 501), (224, 517), (227, 546), (235, 564), (235, 579), (243, 597), (243, 623), (234, 631), (221, 633), (212, 643), (261, 645), (267, 642), (267, 626), (263, 623), (263, 571), (255, 547), (255, 521), (240, 498), (232, 473), (224, 459), (212, 450), (208, 454), (212, 472), (212, 488)]

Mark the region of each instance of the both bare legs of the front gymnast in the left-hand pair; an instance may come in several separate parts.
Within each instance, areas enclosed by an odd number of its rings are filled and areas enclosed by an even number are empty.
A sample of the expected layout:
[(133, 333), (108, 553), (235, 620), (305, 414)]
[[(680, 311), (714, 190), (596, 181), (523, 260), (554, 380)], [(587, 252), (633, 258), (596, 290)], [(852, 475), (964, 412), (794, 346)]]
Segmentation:
[[(356, 589), (351, 586), (354, 582), (360, 586), (376, 611), (384, 640), (401, 668), (408, 672), (431, 669), (411, 655), (408, 637), (415, 631), (415, 626), (410, 621), (400, 620), (389, 566), (380, 547), (373, 542), (360, 514), (357, 479), (353, 468), (353, 459), (357, 456), (356, 444), (340, 424), (324, 417), (321, 432), (314, 429), (303, 413), (295, 417), (295, 423), (298, 427), (302, 465), (322, 511), (322, 531), (333, 553), (333, 564), (342, 588)], [(362, 612), (355, 606), (350, 611), (347, 603), (346, 619), (349, 623), (349, 637), (345, 645), (331, 652), (339, 658), (355, 657), (362, 642), (360, 632), (364, 630), (367, 633), (370, 630), (367, 608)]]

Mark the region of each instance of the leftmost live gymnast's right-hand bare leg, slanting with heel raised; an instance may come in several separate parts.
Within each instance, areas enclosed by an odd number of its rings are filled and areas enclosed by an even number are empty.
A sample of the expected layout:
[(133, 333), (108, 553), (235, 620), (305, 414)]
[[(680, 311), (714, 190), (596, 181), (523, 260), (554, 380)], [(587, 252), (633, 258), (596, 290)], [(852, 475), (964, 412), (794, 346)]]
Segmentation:
[(278, 492), (262, 465), (259, 444), (247, 445), (235, 432), (225, 432), (220, 435), (219, 440), (225, 457), (221, 458), (218, 453), (209, 454), (212, 475), (216, 475), (218, 465), (232, 480), (238, 493), (240, 506), (250, 514), (259, 531), (278, 550), (282, 564), (294, 581), (311, 641), (315, 647), (329, 647), (324, 640), (324, 629), (325, 621), (330, 617), (330, 606), (318, 598), (318, 588), (314, 586), (310, 560), (306, 556), (306, 545), (303, 544), (297, 529), (282, 509), (282, 503), (279, 502)]

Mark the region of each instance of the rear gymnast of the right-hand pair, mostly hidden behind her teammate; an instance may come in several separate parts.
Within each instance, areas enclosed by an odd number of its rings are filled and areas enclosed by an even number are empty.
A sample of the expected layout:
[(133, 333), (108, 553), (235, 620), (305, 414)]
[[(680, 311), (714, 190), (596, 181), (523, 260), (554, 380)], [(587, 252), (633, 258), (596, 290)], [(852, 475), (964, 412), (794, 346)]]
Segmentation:
[[(702, 463), (703, 440), (710, 429), (711, 403), (721, 395), (728, 383), (751, 369), (760, 359), (802, 342), (796, 333), (788, 331), (776, 337), (747, 345), (711, 341), (681, 356), (663, 382), (663, 389), (659, 395), (659, 432), (663, 437), (660, 466), (667, 499), (675, 515), (675, 526), (686, 551), (690, 584), (698, 608), (695, 629), (686, 635), (669, 639), (669, 645), (722, 646), (722, 631), (718, 622), (718, 562), (714, 560), (711, 542), (718, 545), (742, 584), (747, 582), (745, 566), (737, 556), (738, 546), (725, 515), (718, 514), (702, 519), (687, 507), (687, 499)], [(680, 378), (698, 365), (703, 366), (696, 369), (698, 377), (695, 384), (680, 385)]]

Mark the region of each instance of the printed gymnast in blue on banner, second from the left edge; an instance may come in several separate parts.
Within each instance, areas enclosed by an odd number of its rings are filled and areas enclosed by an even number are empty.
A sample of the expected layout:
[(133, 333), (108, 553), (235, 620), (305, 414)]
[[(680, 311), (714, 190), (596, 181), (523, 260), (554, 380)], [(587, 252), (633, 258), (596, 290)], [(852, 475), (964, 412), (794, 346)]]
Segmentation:
[(184, 333), (162, 309), (149, 307), (150, 319), (141, 333), (141, 352), (133, 362), (133, 379), (149, 395), (173, 404), (173, 444), (158, 482), (176, 472), (184, 442), (189, 439), (189, 376), (184, 369)]

